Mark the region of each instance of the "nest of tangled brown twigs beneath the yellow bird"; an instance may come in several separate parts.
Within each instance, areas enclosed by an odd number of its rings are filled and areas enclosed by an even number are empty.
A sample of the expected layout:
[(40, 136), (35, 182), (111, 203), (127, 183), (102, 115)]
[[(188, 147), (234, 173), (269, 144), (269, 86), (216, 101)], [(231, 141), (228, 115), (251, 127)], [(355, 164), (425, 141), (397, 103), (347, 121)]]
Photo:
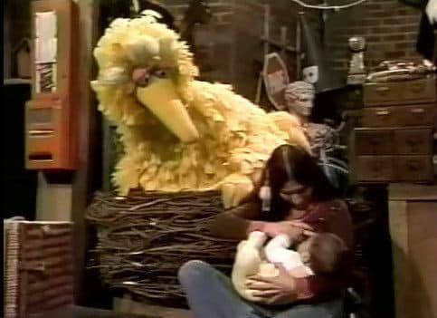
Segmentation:
[(98, 192), (87, 211), (97, 226), (92, 267), (103, 282), (137, 298), (181, 301), (177, 270), (200, 259), (229, 273), (235, 242), (211, 236), (209, 222), (223, 211), (219, 192)]

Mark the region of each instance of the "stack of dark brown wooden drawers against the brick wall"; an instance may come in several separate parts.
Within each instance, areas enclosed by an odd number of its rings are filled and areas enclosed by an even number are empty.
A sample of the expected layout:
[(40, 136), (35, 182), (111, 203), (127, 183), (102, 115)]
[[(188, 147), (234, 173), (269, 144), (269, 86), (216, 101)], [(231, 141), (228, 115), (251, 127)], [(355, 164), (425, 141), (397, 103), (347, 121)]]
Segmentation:
[(352, 136), (352, 179), (427, 182), (433, 178), (434, 77), (364, 85), (361, 128)]

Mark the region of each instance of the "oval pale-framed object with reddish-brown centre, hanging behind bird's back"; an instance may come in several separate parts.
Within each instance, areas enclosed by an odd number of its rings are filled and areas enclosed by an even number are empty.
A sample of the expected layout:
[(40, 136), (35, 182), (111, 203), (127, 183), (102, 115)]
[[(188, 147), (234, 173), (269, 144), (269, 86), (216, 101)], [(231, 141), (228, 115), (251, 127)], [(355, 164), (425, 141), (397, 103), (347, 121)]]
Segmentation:
[(287, 66), (278, 53), (270, 53), (264, 57), (262, 70), (265, 89), (269, 100), (278, 111), (285, 110), (285, 89), (290, 82)]

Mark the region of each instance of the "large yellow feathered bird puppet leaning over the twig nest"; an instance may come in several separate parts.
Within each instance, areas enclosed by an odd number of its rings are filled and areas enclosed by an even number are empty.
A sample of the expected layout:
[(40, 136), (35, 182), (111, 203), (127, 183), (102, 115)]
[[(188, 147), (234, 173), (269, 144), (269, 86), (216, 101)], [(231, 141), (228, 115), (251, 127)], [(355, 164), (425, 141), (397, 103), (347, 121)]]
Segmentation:
[(273, 149), (309, 149), (289, 113), (266, 113), (230, 86), (196, 81), (193, 54), (155, 12), (114, 20), (94, 56), (91, 87), (124, 147), (112, 178), (121, 195), (220, 189), (224, 207), (233, 207), (253, 190)]

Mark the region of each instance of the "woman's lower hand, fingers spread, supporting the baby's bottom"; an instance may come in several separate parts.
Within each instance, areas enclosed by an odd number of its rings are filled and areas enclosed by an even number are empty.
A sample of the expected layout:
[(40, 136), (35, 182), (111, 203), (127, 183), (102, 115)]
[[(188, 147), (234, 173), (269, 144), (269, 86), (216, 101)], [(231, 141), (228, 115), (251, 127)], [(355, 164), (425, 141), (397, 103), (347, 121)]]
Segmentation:
[(261, 277), (254, 275), (246, 286), (261, 304), (291, 304), (296, 300), (296, 282), (282, 265), (276, 265), (279, 275)]

